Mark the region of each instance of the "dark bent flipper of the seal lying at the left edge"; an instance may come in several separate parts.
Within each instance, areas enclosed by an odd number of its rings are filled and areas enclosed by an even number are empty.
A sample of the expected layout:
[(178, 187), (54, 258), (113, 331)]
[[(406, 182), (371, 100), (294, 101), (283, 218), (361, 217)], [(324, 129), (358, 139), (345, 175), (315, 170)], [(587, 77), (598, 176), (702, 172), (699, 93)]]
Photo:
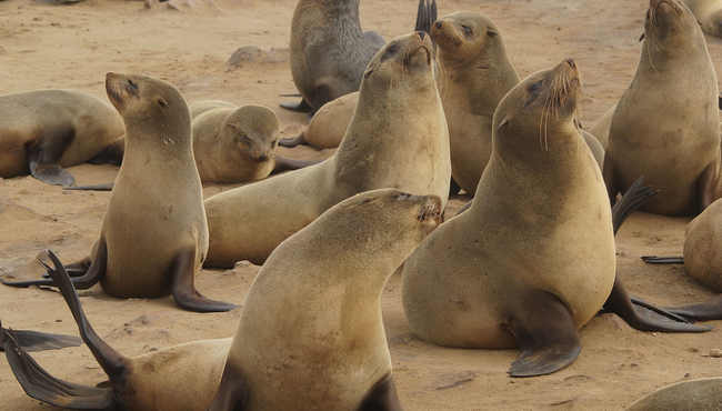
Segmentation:
[(29, 149), (30, 173), (36, 179), (53, 186), (72, 186), (76, 179), (59, 162), (66, 147), (73, 140), (72, 127), (57, 127), (38, 136)]

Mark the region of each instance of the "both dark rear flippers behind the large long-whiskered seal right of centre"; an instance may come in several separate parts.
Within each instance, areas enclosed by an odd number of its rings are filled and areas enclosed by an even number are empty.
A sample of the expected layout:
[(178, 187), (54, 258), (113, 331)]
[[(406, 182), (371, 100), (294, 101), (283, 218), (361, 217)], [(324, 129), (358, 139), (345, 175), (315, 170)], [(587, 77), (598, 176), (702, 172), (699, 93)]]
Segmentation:
[[(644, 176), (640, 177), (612, 208), (614, 234), (616, 234), (616, 231), (632, 211), (659, 192), (659, 190), (654, 190), (649, 186), (640, 188), (643, 180)], [(618, 273), (614, 278), (612, 292), (604, 302), (603, 310), (615, 313), (626, 321), (630, 327), (641, 331), (704, 332), (712, 329), (711, 327), (693, 325), (680, 315), (642, 301), (630, 297), (624, 282)]]

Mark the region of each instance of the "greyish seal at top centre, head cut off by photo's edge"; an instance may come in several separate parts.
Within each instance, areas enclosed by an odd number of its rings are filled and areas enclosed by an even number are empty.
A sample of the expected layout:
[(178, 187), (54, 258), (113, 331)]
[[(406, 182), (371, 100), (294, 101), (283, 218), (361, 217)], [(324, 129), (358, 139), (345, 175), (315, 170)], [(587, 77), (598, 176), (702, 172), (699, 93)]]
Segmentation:
[[(424, 2), (425, 1), (425, 2)], [(312, 118), (327, 102), (359, 90), (367, 64), (382, 48), (381, 37), (361, 31), (360, 0), (299, 0), (291, 21), (291, 74), (303, 100), (281, 103)], [(419, 1), (417, 28), (429, 32), (435, 0)], [(377, 39), (372, 42), (369, 38)], [(382, 40), (382, 39), (381, 39)]]

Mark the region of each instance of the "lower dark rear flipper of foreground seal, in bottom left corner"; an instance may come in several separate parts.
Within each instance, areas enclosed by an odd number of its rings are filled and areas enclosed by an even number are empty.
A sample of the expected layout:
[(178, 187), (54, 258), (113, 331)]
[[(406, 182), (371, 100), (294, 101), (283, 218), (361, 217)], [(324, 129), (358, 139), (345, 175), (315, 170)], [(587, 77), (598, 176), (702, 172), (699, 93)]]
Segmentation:
[(4, 341), (6, 357), (18, 382), (29, 397), (71, 410), (116, 410), (113, 390), (59, 380), (28, 354), (10, 330)]

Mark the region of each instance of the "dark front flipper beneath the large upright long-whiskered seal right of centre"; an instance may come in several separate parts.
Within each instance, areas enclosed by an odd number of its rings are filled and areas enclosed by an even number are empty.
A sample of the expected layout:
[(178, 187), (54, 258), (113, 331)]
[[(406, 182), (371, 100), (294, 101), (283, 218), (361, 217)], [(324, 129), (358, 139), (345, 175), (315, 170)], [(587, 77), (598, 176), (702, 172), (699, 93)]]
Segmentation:
[(511, 377), (545, 375), (571, 364), (582, 349), (569, 310), (556, 295), (533, 289), (512, 313), (509, 329), (521, 345)]

